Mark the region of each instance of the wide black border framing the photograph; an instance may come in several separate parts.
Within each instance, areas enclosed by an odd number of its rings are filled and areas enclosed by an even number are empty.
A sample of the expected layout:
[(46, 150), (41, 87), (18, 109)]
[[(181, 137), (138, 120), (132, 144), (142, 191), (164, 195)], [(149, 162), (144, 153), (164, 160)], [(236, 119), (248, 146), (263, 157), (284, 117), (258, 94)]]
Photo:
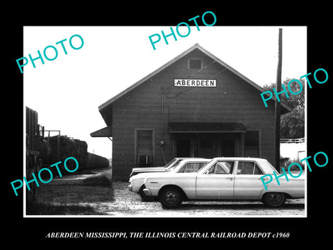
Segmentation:
[[(84, 3), (86, 4), (86, 3)], [(280, 4), (280, 6), (278, 6)], [(332, 163), (332, 149), (330, 148), (330, 95), (332, 90), (332, 42), (330, 34), (328, 13), (330, 6), (325, 3), (314, 3), (311, 8), (305, 6), (289, 6), (283, 3), (269, 3), (262, 6), (252, 3), (245, 6), (237, 3), (235, 6), (219, 3), (216, 6), (204, 4), (184, 3), (183, 7), (173, 5), (171, 2), (151, 5), (141, 3), (139, 6), (123, 8), (113, 3), (96, 3), (95, 6), (85, 6), (79, 3), (74, 8), (67, 4), (59, 3), (56, 6), (33, 6), (28, 8), (19, 6), (10, 9), (8, 13), (9, 25), (6, 28), (6, 69), (4, 71), (6, 83), (3, 85), (3, 129), (6, 145), (3, 149), (5, 165), (3, 165), (4, 180), (3, 194), (5, 194), (6, 214), (8, 217), (5, 228), (5, 240), (17, 239), (17, 244), (28, 246), (40, 244), (45, 241), (49, 246), (49, 240), (66, 240), (71, 242), (87, 242), (85, 239), (46, 239), (49, 232), (289, 232), (288, 239), (246, 239), (249, 241), (266, 240), (274, 242), (301, 243), (313, 240), (323, 241), (330, 239), (330, 229), (325, 227), (325, 222), (330, 218), (330, 174)], [(189, 6), (190, 5), (190, 6)], [(273, 6), (277, 5), (277, 6)], [(269, 6), (269, 7), (268, 7)], [(130, 8), (129, 8), (130, 7)], [(191, 7), (191, 8), (190, 8)], [(16, 59), (23, 56), (23, 26), (144, 26), (165, 25), (176, 26), (179, 22), (210, 10), (217, 17), (216, 26), (307, 26), (308, 44), (308, 69), (314, 72), (318, 68), (324, 68), (329, 74), (329, 80), (323, 85), (314, 83), (313, 88), (308, 88), (307, 96), (307, 139), (308, 156), (314, 156), (318, 151), (327, 153), (330, 161), (326, 167), (313, 167), (313, 172), (308, 173), (308, 210), (307, 218), (23, 218), (22, 199), (17, 199), (12, 194), (10, 181), (22, 178), (23, 162), (23, 75), (17, 69)], [(10, 18), (9, 18), (10, 17)], [(14, 23), (12, 23), (12, 22)], [(228, 39), (228, 38), (226, 38)], [(297, 37), (295, 38), (298, 39)], [(133, 38), (135, 42), (135, 38)], [(7, 55), (8, 53), (8, 55)], [(298, 62), (295, 62), (297, 64)], [(5, 94), (6, 93), (6, 94)], [(4, 98), (9, 95), (9, 98)], [(4, 131), (4, 130), (3, 130)], [(310, 162), (313, 164), (313, 162)], [(19, 194), (22, 197), (22, 194)], [(330, 225), (327, 225), (330, 226)], [(89, 241), (103, 240), (104, 242), (142, 242), (155, 244), (176, 240), (198, 242), (198, 239), (89, 239)], [(110, 241), (112, 240), (112, 241)], [(216, 239), (204, 239), (216, 242)], [(241, 239), (218, 239), (234, 241)], [(244, 240), (244, 239), (243, 239)], [(243, 241), (241, 240), (241, 241)], [(281, 242), (280, 242), (281, 244)], [(284, 243), (283, 243), (284, 244)], [(112, 245), (111, 245), (112, 246)], [(144, 245), (146, 246), (146, 245)], [(113, 245), (112, 247), (115, 247)], [(259, 246), (258, 246), (259, 247)], [(264, 247), (264, 245), (262, 245)], [(267, 245), (265, 247), (268, 247)], [(283, 247), (283, 245), (281, 245)]]

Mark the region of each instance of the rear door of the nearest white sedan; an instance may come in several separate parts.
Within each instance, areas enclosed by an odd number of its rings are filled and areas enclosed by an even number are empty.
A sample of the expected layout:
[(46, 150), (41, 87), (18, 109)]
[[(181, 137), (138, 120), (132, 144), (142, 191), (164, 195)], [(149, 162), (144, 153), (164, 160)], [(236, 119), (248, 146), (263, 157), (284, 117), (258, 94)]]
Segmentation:
[(239, 160), (234, 176), (234, 197), (260, 197), (262, 169), (255, 161)]

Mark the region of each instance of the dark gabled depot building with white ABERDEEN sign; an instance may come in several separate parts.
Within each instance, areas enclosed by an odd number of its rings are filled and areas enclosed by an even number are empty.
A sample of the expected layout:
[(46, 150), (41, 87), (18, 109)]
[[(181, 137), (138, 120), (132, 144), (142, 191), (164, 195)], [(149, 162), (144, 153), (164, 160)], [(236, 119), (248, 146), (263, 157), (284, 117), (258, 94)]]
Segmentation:
[[(113, 178), (175, 157), (245, 156), (274, 164), (274, 101), (265, 90), (195, 44), (99, 106), (112, 138)], [(289, 111), (282, 104), (281, 114)]]

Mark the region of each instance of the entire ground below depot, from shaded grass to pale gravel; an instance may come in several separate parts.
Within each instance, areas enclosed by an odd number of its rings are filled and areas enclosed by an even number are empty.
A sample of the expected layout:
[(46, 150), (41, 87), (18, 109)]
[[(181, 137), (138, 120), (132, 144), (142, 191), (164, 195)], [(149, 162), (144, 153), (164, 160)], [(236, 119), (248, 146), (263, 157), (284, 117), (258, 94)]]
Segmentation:
[[(108, 174), (110, 170), (104, 170)], [(287, 200), (282, 208), (267, 208), (260, 201), (185, 201), (176, 210), (164, 210), (159, 201), (143, 202), (129, 192), (128, 182), (83, 185), (101, 172), (63, 176), (37, 188), (39, 204), (51, 204), (51, 212), (39, 215), (109, 215), (111, 217), (305, 217), (305, 199)], [(103, 174), (103, 172), (102, 172)], [(110, 174), (110, 173), (109, 173)], [(41, 206), (41, 205), (40, 205)], [(44, 206), (44, 205), (43, 205)], [(28, 213), (27, 213), (28, 215)]]

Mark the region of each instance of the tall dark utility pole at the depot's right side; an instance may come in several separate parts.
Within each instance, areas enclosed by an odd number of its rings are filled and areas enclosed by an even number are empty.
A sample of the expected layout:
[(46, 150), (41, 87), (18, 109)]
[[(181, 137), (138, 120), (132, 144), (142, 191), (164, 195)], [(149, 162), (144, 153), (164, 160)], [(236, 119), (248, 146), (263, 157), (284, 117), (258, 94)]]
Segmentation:
[[(281, 74), (282, 74), (282, 28), (279, 28), (279, 40), (278, 40), (278, 71), (276, 74), (276, 90), (281, 92)], [(278, 98), (275, 98), (275, 169), (280, 167), (280, 113), (281, 104)]]

